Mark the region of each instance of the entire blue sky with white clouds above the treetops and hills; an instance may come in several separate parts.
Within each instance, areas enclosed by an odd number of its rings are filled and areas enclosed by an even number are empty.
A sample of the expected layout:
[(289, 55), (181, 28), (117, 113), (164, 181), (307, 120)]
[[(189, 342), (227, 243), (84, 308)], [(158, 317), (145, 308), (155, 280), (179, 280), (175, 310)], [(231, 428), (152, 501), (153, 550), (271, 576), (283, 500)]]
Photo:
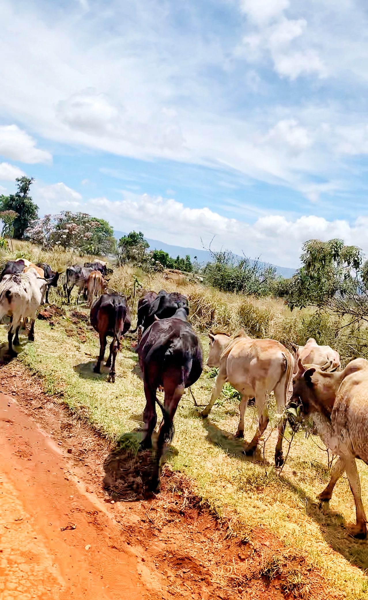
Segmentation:
[(368, 254), (368, 4), (0, 0), (0, 193), (169, 244)]

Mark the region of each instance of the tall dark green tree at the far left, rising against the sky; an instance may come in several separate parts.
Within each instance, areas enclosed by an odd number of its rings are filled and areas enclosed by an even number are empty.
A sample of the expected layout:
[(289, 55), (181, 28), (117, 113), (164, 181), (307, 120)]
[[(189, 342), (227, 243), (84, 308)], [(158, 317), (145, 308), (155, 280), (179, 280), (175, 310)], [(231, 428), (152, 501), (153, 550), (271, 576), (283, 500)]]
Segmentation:
[(17, 177), (16, 182), (18, 190), (15, 194), (0, 196), (0, 210), (17, 212), (18, 216), (13, 221), (13, 233), (14, 238), (22, 239), (31, 221), (37, 218), (38, 206), (32, 202), (32, 198), (29, 196), (29, 188), (34, 182), (34, 178)]

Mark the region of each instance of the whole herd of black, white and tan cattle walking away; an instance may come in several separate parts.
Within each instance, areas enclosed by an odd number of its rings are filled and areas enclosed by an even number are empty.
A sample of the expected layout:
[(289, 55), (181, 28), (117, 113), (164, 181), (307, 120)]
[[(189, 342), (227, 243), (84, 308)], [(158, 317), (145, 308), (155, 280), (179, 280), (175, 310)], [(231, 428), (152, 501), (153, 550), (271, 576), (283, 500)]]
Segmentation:
[[(120, 339), (131, 328), (131, 315), (125, 296), (116, 292), (103, 293), (108, 269), (102, 262), (70, 266), (65, 275), (64, 291), (70, 301), (71, 290), (78, 286), (91, 305), (91, 324), (99, 334), (100, 351), (94, 368), (100, 372), (104, 361), (107, 337), (112, 337), (106, 365), (108, 380), (115, 380), (115, 363)], [(22, 320), (30, 318), (29, 340), (34, 340), (37, 308), (44, 302), (50, 286), (58, 285), (59, 273), (49, 265), (33, 265), (25, 259), (8, 262), (0, 274), (0, 320), (8, 315), (9, 352), (14, 354), (12, 341), (19, 344)], [(99, 297), (92, 303), (95, 295)], [(138, 301), (138, 332), (135, 351), (143, 373), (146, 407), (141, 448), (152, 445), (156, 426), (156, 404), (162, 412), (156, 458), (153, 461), (150, 487), (159, 487), (159, 461), (165, 443), (173, 439), (173, 419), (185, 388), (195, 383), (203, 370), (203, 352), (198, 335), (189, 321), (189, 305), (180, 293), (144, 291)], [(339, 458), (331, 479), (319, 500), (331, 499), (334, 485), (346, 472), (357, 512), (353, 535), (366, 537), (367, 519), (361, 500), (360, 478), (355, 458), (368, 464), (368, 361), (363, 358), (349, 362), (340, 370), (340, 356), (330, 346), (318, 346), (310, 338), (305, 346), (288, 350), (276, 340), (251, 338), (243, 330), (230, 337), (224, 333), (209, 334), (210, 351), (207, 365), (218, 367), (219, 373), (209, 404), (201, 415), (207, 417), (221, 394), (225, 382), (239, 391), (240, 421), (236, 437), (243, 437), (245, 410), (251, 398), (258, 410), (258, 427), (248, 444), (246, 454), (254, 452), (269, 422), (268, 395), (273, 391), (277, 407), (290, 404), (300, 407), (304, 418), (312, 419), (319, 436)], [(292, 393), (289, 393), (291, 390)], [(164, 401), (157, 397), (164, 391)], [(275, 451), (276, 466), (283, 464), (282, 440), (287, 411), (279, 420)]]

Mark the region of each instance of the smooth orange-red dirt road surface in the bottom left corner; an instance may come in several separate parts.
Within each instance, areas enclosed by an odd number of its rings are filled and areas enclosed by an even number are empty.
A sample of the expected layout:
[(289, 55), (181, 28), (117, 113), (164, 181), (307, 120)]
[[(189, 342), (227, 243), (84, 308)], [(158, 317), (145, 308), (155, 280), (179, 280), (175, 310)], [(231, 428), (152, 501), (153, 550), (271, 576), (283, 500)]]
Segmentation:
[(103, 503), (66, 476), (55, 442), (2, 393), (0, 447), (0, 600), (156, 597)]

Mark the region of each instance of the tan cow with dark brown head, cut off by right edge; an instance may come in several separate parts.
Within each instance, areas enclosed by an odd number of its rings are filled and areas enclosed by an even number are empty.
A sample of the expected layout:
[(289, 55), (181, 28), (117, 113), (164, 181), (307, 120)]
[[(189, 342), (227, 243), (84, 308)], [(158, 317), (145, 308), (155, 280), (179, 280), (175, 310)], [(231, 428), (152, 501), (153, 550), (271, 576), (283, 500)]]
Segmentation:
[(355, 458), (368, 464), (368, 361), (357, 358), (336, 373), (326, 373), (316, 367), (304, 370), (301, 363), (299, 367), (294, 377), (292, 401), (301, 401), (304, 415), (313, 418), (325, 445), (339, 455), (330, 482), (318, 499), (328, 502), (336, 482), (346, 471), (357, 512), (352, 535), (365, 538), (367, 518)]

